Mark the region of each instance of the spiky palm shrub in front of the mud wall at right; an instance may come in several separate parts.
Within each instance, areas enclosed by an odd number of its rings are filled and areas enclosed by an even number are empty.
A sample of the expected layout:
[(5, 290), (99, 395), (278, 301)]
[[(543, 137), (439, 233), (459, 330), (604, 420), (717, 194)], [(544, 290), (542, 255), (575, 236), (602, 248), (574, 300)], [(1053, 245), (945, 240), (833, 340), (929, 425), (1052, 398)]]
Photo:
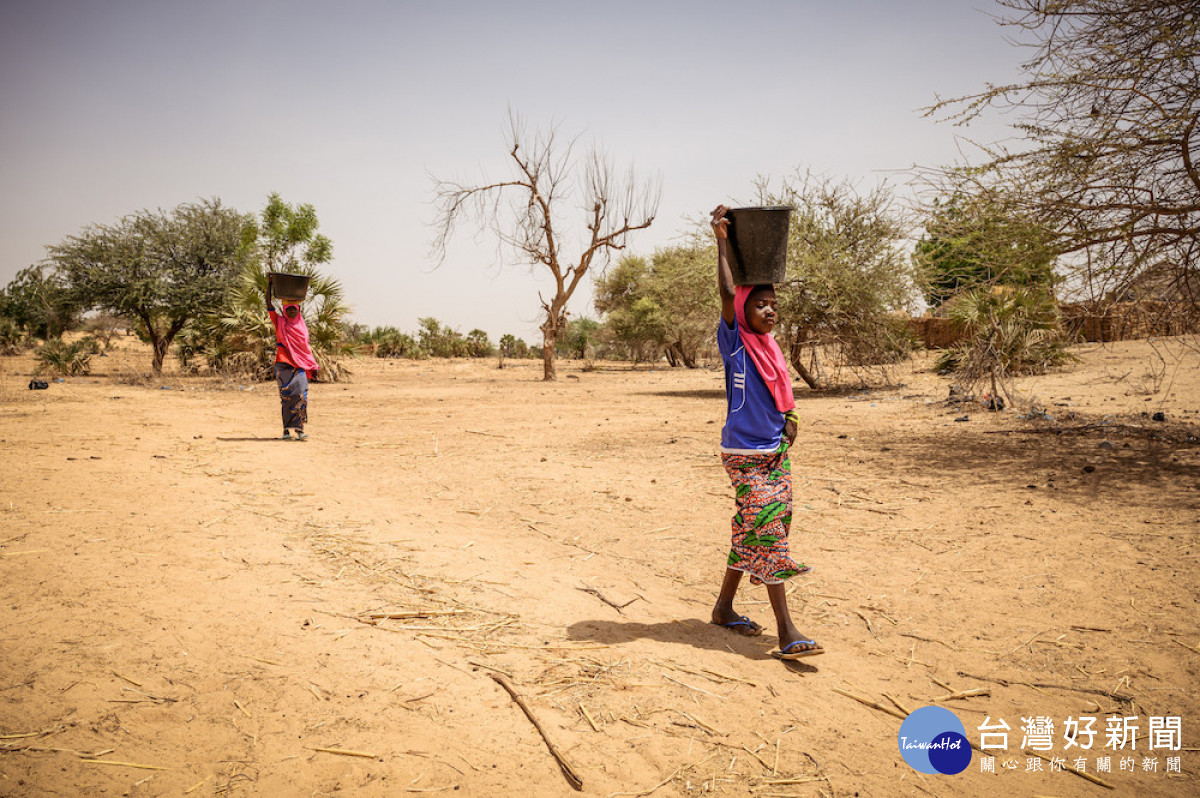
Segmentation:
[(1044, 373), (1072, 360), (1058, 306), (1037, 286), (991, 286), (947, 302), (948, 317), (965, 338), (938, 359), (938, 371), (959, 374), (970, 391), (989, 384), (992, 396), (1013, 402), (1010, 378)]

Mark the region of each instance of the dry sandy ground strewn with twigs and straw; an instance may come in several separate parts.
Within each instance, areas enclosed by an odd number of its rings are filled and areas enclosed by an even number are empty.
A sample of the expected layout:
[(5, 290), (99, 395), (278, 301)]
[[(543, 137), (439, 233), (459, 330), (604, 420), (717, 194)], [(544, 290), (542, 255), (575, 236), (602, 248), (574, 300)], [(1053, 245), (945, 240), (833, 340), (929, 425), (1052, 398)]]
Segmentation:
[[(1162, 379), (1127, 342), (1022, 382), (1052, 420), (948, 406), (928, 356), (802, 391), (790, 601), (827, 653), (790, 665), (762, 588), (766, 635), (708, 623), (718, 371), (360, 361), (284, 443), (270, 384), (0, 359), (0, 796), (574, 794), (496, 676), (589, 796), (1195, 796), (1200, 364), (1157, 346)], [(924, 775), (842, 691), (1008, 745)], [(1079, 716), (1112, 791), (1021, 750), (1049, 718), (1075, 764)]]

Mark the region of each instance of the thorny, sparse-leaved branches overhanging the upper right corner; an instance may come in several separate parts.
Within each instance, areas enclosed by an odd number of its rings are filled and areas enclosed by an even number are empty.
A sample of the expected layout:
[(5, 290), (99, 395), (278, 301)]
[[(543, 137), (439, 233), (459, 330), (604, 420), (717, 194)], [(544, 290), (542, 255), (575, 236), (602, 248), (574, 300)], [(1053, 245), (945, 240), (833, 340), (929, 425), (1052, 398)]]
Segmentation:
[(935, 173), (941, 194), (1002, 187), (1051, 230), (1084, 298), (1122, 293), (1169, 264), (1193, 299), (1200, 256), (1200, 7), (1180, 0), (997, 0), (1022, 44), (1025, 78), (940, 100), (966, 124), (1024, 114), (1015, 150)]

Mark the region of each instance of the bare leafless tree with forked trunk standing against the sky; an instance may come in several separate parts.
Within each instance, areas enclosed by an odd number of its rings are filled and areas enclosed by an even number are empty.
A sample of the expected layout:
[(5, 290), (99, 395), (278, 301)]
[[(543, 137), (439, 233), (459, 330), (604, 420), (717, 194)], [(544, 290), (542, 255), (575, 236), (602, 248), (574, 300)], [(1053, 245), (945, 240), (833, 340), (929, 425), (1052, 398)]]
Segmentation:
[[(629, 234), (650, 226), (658, 212), (655, 184), (638, 181), (630, 169), (618, 178), (612, 161), (599, 149), (575, 157), (575, 140), (559, 142), (557, 128), (529, 134), (515, 114), (509, 115), (508, 150), (512, 175), (509, 180), (464, 185), (436, 180), (438, 260), (456, 228), (474, 221), (480, 232), (491, 232), (500, 250), (515, 252), (533, 268), (546, 269), (554, 281), (553, 295), (538, 294), (541, 323), (542, 377), (556, 379), (554, 352), (566, 330), (566, 305), (593, 265), (601, 268), (623, 250)], [(578, 254), (571, 246), (571, 227), (564, 209), (571, 200), (582, 211)]]

